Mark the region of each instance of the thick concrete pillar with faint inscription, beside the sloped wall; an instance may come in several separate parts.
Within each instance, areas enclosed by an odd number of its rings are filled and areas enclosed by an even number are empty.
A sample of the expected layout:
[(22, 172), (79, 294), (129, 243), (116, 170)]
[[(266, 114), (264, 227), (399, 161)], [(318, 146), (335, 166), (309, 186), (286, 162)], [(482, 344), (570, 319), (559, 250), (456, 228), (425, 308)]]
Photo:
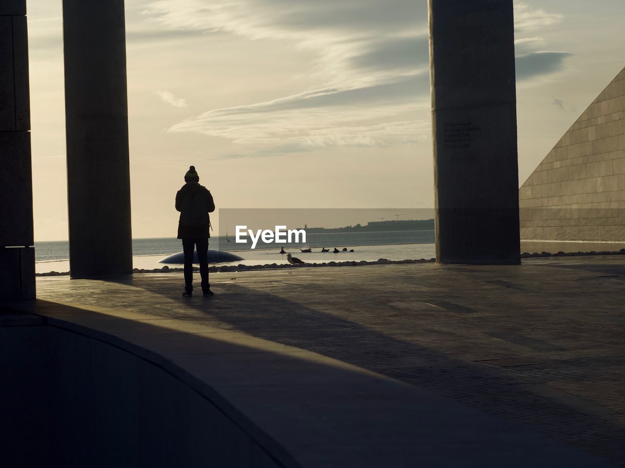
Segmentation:
[(520, 263), (512, 0), (429, 0), (438, 263)]

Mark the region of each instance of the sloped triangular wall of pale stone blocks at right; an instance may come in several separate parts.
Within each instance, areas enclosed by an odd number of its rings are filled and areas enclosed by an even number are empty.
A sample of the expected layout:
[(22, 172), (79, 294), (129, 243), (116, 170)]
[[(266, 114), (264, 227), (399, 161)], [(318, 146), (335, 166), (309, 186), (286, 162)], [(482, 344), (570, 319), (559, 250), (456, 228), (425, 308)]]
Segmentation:
[(625, 69), (519, 190), (521, 240), (625, 241)]

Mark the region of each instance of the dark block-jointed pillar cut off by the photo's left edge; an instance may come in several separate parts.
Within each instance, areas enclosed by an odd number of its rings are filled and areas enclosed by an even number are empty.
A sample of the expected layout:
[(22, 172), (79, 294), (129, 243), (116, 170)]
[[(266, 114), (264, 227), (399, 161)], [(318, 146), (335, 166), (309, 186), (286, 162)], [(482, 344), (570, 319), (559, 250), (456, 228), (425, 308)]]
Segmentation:
[(0, 298), (35, 296), (26, 0), (0, 3)]

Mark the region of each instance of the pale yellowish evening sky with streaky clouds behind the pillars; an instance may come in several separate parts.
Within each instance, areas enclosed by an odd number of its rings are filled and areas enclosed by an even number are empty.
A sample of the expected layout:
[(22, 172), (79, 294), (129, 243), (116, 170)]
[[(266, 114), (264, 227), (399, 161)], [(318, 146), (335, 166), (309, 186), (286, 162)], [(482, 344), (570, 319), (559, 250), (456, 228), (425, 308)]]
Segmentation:
[[(29, 0), (35, 240), (66, 240), (61, 0)], [(516, 0), (519, 185), (625, 66), (622, 0)], [(133, 237), (217, 208), (431, 208), (426, 0), (126, 0)], [(367, 222), (362, 220), (361, 222)]]

